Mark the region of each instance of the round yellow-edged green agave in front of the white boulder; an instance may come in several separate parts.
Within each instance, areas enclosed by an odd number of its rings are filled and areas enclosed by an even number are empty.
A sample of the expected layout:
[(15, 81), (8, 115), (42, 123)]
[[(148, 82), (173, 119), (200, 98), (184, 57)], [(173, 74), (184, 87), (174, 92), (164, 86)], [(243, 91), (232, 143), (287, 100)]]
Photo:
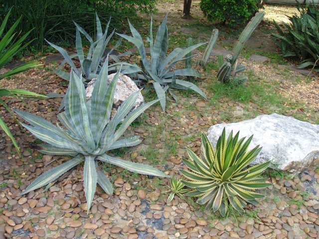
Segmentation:
[(239, 132), (233, 137), (231, 131), (226, 140), (224, 128), (216, 149), (213, 149), (207, 135), (202, 133), (201, 157), (187, 149), (191, 160), (183, 161), (191, 172), (181, 170), (189, 179), (183, 183), (193, 188), (186, 195), (197, 196), (197, 203), (207, 203), (207, 210), (219, 211), (223, 217), (229, 204), (238, 211), (243, 211), (247, 202), (257, 204), (256, 199), (263, 195), (255, 192), (255, 189), (271, 185), (265, 183), (265, 178), (259, 177), (270, 162), (245, 168), (256, 158), (261, 147), (258, 145), (247, 151), (253, 136), (245, 142), (245, 138), (238, 140), (238, 137)]

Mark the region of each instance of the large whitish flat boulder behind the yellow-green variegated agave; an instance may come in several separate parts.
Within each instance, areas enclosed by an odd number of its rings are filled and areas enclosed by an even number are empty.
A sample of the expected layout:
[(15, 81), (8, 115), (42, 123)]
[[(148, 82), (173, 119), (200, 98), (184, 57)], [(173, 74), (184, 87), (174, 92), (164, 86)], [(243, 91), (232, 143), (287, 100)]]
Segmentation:
[(252, 164), (272, 161), (271, 167), (300, 172), (316, 169), (319, 164), (319, 125), (300, 121), (278, 114), (262, 115), (255, 119), (238, 123), (222, 123), (211, 126), (207, 135), (213, 146), (226, 127), (228, 135), (233, 130), (235, 135), (247, 138), (254, 135), (249, 150), (256, 145), (262, 150)]

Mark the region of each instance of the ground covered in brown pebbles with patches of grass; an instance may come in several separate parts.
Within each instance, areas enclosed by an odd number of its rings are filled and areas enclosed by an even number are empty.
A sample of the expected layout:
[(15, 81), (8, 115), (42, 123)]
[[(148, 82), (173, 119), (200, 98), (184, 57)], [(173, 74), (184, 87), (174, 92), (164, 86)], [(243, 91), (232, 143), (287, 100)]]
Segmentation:
[[(209, 39), (211, 25), (198, 13), (197, 3), (194, 1), (191, 9), (193, 19), (190, 21), (180, 19), (181, 1), (160, 3), (155, 19), (160, 22), (165, 14), (163, 6), (166, 6), (165, 12), (167, 9), (170, 11), (168, 28), (173, 45), (180, 47), (183, 42), (179, 42), (180, 39), (194, 38), (194, 34), (199, 32), (203, 33), (200, 34), (203, 40)], [(276, 7), (287, 12), (285, 8)], [(266, 6), (266, 12), (272, 13), (272, 19), (276, 11), (271, 9), (276, 7)], [(217, 82), (216, 58), (211, 57), (211, 63), (205, 69), (198, 69), (202, 77), (195, 81), (208, 101), (191, 92), (175, 91), (179, 101), (167, 102), (165, 115), (158, 104), (129, 127), (128, 135), (143, 137), (140, 145), (112, 153), (126, 160), (153, 165), (170, 175), (179, 175), (179, 170), (185, 169), (181, 160), (187, 157), (185, 147), (199, 154), (200, 132), (206, 132), (213, 124), (237, 122), (271, 113), (318, 124), (319, 78), (317, 75), (307, 77), (286, 67), (291, 63), (280, 57), (271, 41), (264, 41), (273, 30), (267, 19), (266, 15), (266, 21), (251, 39), (259, 44), (248, 43), (240, 59), (248, 68), (245, 74), (249, 81), (246, 85), (232, 88)], [(148, 22), (149, 19), (145, 24)], [(148, 26), (143, 25), (142, 21), (140, 27), (146, 27), (147, 32)], [(233, 44), (236, 33), (227, 32), (227, 29), (221, 31), (223, 34), (216, 48), (227, 49)], [(269, 60), (264, 63), (249, 60), (250, 55), (256, 53), (267, 55)], [(47, 55), (35, 57), (44, 60)], [(133, 58), (138, 59), (138, 55)], [(50, 70), (55, 64), (45, 63), (14, 78), (3, 79), (1, 87), (21, 88), (40, 94), (65, 94), (66, 82)], [(146, 100), (153, 98), (155, 94), (147, 96)], [(5, 102), (12, 108), (55, 123), (61, 99), (5, 99)], [(2, 110), (1, 113), (4, 112)], [(114, 182), (115, 193), (107, 195), (98, 187), (89, 214), (83, 192), (83, 165), (59, 178), (46, 191), (41, 188), (17, 196), (35, 177), (67, 158), (38, 153), (36, 149), (40, 142), (23, 132), (9, 115), (4, 119), (21, 147), (22, 156), (15, 153), (9, 139), (1, 132), (0, 239), (319, 238), (319, 169), (297, 175), (270, 170), (267, 177), (273, 186), (262, 191), (266, 197), (261, 204), (247, 208), (243, 215), (233, 212), (227, 219), (205, 212), (190, 198), (182, 200), (175, 197), (166, 203), (168, 195), (162, 192), (167, 190), (168, 179), (132, 174), (108, 164), (102, 167)]]

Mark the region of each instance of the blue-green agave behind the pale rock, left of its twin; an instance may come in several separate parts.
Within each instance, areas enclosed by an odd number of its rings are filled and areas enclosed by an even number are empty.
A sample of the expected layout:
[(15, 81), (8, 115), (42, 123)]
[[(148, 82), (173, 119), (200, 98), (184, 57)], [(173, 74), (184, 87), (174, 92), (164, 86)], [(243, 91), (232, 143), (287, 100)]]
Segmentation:
[[(111, 39), (111, 37), (114, 34), (113, 30), (109, 36), (108, 34), (108, 28), (110, 25), (110, 21), (107, 23), (105, 32), (103, 33), (101, 22), (99, 19), (99, 16), (96, 14), (96, 40), (93, 41), (92, 37), (77, 23), (74, 22), (76, 25), (76, 40), (75, 40), (75, 45), (76, 45), (76, 51), (77, 54), (74, 54), (70, 56), (65, 49), (62, 47), (59, 47), (57, 45), (54, 45), (51, 42), (48, 42), (50, 46), (52, 46), (54, 49), (59, 51), (61, 55), (65, 58), (65, 60), (60, 64), (58, 69), (54, 69), (54, 72), (61, 77), (64, 80), (69, 80), (70, 79), (70, 74), (66, 73), (65, 71), (62, 71), (62, 68), (65, 66), (65, 64), (69, 64), (75, 74), (79, 77), (82, 78), (84, 82), (89, 82), (93, 78), (96, 78), (99, 74), (99, 72), (102, 69), (103, 63), (105, 62), (106, 58), (106, 47)], [(82, 46), (82, 38), (80, 32), (87, 38), (87, 40), (90, 42), (90, 48), (88, 54), (85, 56), (84, 51), (83, 51), (83, 46)], [(108, 67), (109, 71), (116, 71), (120, 67), (120, 56), (124, 55), (129, 55), (131, 52), (125, 52), (120, 55), (110, 55), (115, 48), (117, 48), (121, 44), (121, 41), (118, 41), (118, 43), (109, 51), (109, 55), (112, 59), (116, 60), (115, 64), (112, 64)], [(81, 64), (81, 69), (77, 69), (75, 64), (73, 63), (72, 59), (73, 58), (78, 58)], [(125, 68), (125, 70), (122, 72), (123, 74), (130, 74), (130, 73), (135, 73), (137, 71), (140, 71), (141, 69), (137, 66), (133, 66), (129, 63), (121, 63), (124, 65), (122, 69)], [(133, 69), (133, 70), (132, 70)]]

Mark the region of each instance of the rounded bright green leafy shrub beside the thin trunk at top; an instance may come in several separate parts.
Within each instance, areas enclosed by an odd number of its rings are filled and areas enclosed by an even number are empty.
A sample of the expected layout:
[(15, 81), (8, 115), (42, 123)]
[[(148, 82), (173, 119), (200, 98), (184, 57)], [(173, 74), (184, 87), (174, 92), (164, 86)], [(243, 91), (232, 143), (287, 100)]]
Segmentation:
[(234, 26), (244, 23), (260, 8), (261, 0), (201, 0), (200, 9), (211, 20)]

